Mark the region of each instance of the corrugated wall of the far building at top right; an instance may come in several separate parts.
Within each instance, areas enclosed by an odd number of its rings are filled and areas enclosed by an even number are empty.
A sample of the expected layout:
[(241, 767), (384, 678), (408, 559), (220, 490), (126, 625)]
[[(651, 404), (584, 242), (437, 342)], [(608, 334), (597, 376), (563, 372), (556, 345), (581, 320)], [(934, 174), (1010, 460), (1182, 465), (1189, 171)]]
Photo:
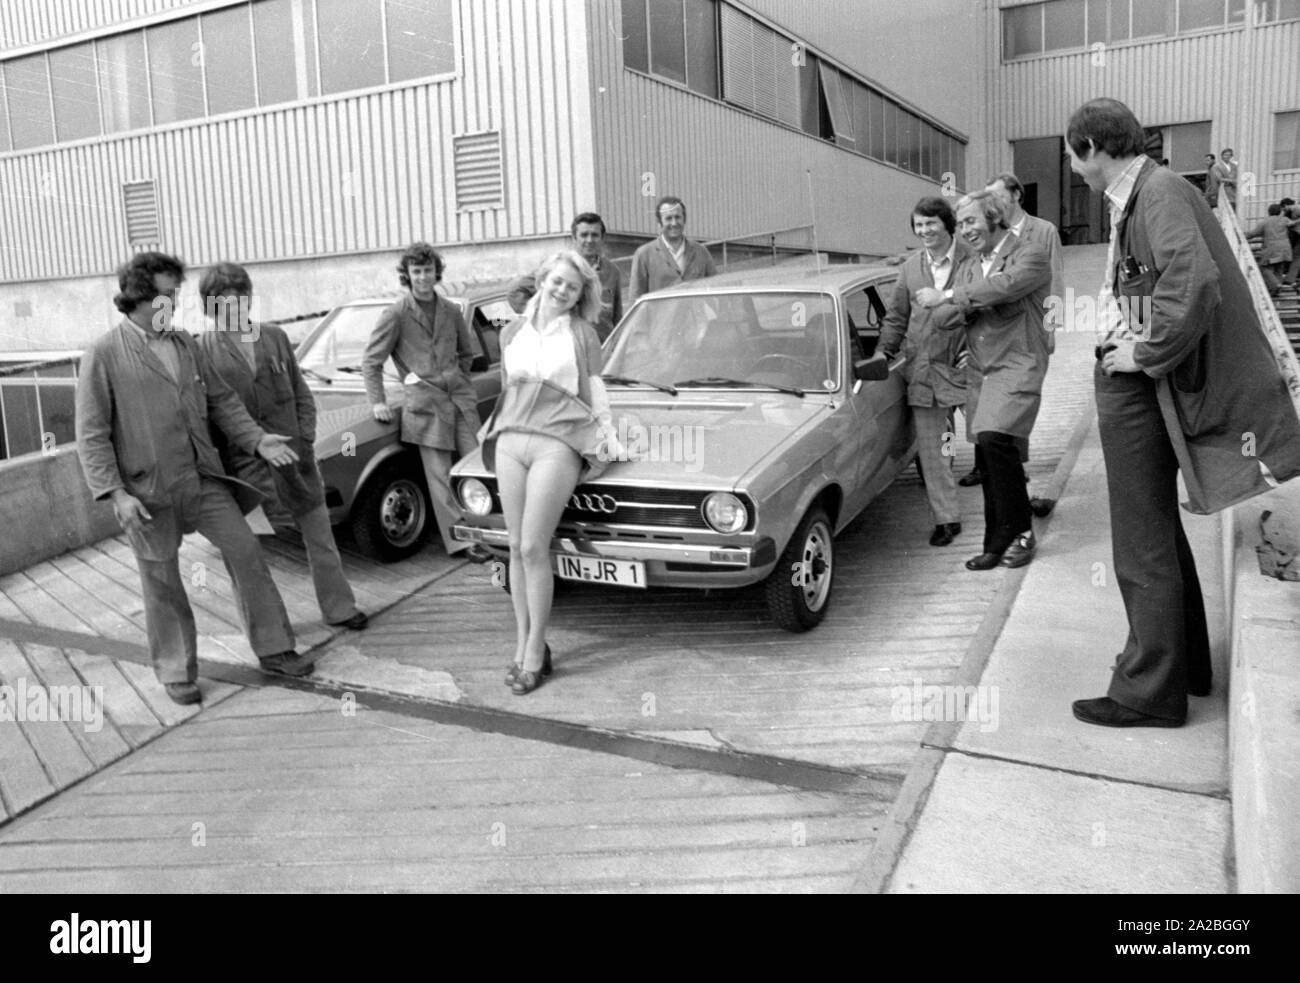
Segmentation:
[(1297, 21), (1008, 64), (1001, 64), (997, 9), (991, 9), (989, 27), (991, 64), (997, 69), (987, 137), (994, 168), (1010, 166), (1010, 140), (1063, 135), (1074, 109), (1109, 96), (1126, 103), (1144, 126), (1210, 120), (1213, 146), (1206, 151), (1232, 147), (1242, 172), (1266, 181), (1273, 173), (1273, 114), (1300, 109)]

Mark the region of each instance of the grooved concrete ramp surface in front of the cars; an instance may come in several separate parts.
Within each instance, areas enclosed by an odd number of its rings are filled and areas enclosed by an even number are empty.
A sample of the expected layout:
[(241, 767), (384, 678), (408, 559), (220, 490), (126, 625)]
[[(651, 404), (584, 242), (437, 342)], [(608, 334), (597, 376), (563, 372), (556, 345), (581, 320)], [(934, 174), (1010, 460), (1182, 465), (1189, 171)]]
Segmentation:
[[(1091, 286), (1100, 251), (1067, 257)], [(1036, 492), (1060, 490), (1053, 473), (1091, 417), (1092, 343), (1058, 337)], [(956, 464), (970, 467), (968, 446)], [(508, 599), (437, 547), (396, 567), (350, 559), (378, 616), (332, 635), (300, 553), (268, 541), (321, 657), (315, 690), (294, 693), (259, 688), (220, 560), (187, 541), (198, 714), (139, 664), (125, 542), (0, 580), (0, 677), (108, 693), (94, 737), (0, 726), (0, 801), (23, 813), (0, 826), (0, 891), (879, 889), (918, 828), (915, 787), (940, 767), (922, 746), (940, 746), (930, 722), (901, 714), (900, 693), (978, 681), (1024, 577), (963, 568), (982, 497), (961, 494), (966, 532), (937, 550), (913, 472), (881, 495), (837, 541), (833, 609), (809, 635), (771, 628), (757, 590), (575, 586), (556, 603), (556, 674), (526, 698), (500, 681)], [(1028, 571), (1065, 542), (1057, 528), (1095, 520), (1082, 503), (1041, 529)], [(916, 843), (933, 836), (922, 827)]]

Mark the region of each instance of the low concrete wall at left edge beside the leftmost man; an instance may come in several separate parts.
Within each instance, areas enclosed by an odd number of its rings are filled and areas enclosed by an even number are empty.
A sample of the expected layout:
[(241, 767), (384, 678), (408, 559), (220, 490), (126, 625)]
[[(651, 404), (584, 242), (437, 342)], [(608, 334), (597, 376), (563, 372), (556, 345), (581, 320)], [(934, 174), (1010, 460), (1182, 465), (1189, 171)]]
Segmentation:
[(91, 499), (75, 447), (0, 462), (0, 576), (118, 532), (113, 508)]

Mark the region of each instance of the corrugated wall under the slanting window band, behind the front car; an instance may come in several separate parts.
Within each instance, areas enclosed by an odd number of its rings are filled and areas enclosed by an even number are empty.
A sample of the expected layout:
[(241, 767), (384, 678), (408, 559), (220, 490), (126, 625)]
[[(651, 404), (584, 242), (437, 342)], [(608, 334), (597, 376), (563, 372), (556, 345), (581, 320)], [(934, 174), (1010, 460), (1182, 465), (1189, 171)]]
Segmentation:
[[(781, 26), (805, 36), (794, 8), (816, 5), (788, 7)], [(595, 187), (611, 231), (653, 234), (655, 198), (675, 194), (686, 202), (692, 238), (749, 235), (815, 217), (822, 250), (887, 254), (909, 243), (907, 208), (935, 194), (933, 182), (624, 70), (619, 0), (588, 0), (588, 9), (602, 148)]]

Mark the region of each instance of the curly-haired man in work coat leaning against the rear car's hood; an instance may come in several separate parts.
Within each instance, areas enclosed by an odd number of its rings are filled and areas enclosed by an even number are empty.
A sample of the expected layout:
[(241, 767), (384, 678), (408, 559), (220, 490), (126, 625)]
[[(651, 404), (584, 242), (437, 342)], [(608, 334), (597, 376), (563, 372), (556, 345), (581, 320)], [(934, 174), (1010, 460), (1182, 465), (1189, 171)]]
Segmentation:
[[(391, 356), (402, 373), (402, 439), (420, 447), (442, 545), (447, 555), (455, 555), (469, 550), (469, 544), (451, 536), (451, 527), (460, 519), (451, 494), (452, 455), (478, 446), (480, 421), (469, 381), (473, 339), (460, 311), (436, 289), (442, 269), (442, 256), (426, 242), (413, 243), (402, 254), (398, 281), (407, 294), (380, 315), (361, 359), (361, 374), (374, 419), (391, 423), (384, 363)], [(486, 560), (486, 550), (473, 550), (471, 559)]]

